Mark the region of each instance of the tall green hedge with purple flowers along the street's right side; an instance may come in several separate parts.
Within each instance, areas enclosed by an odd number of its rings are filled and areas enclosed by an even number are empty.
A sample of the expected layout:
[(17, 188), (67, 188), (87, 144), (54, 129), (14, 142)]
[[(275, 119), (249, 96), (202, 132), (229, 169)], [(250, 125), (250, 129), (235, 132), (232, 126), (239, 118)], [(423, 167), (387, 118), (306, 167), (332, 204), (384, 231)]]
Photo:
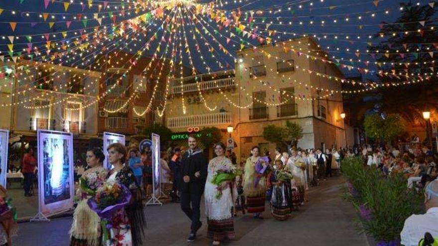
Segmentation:
[(359, 213), (358, 229), (376, 241), (398, 242), (405, 220), (424, 212), (423, 196), (408, 189), (402, 175), (384, 178), (357, 157), (345, 158), (341, 168), (348, 180), (344, 198)]

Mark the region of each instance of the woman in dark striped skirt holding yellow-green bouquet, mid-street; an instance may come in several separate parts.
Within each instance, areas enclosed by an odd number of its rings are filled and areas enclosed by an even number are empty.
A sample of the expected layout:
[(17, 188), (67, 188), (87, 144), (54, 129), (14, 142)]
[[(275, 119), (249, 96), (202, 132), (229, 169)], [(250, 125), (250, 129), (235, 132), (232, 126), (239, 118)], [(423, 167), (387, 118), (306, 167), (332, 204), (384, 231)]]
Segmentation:
[(279, 180), (279, 174), (284, 167), (281, 160), (275, 161), (275, 166), (271, 175), (271, 214), (277, 220), (287, 220), (292, 212), (291, 183)]

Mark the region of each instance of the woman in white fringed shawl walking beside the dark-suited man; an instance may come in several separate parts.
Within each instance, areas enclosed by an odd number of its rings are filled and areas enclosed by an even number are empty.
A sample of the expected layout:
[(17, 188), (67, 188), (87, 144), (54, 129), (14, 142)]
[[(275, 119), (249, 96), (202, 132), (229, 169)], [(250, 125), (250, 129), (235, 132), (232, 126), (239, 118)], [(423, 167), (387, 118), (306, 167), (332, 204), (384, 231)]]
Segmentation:
[[(234, 182), (223, 181), (220, 185), (212, 183), (218, 170), (234, 170), (235, 166), (225, 157), (225, 145), (218, 143), (215, 146), (217, 157), (213, 158), (208, 167), (207, 182), (204, 191), (206, 215), (208, 218), (208, 237), (213, 238), (213, 245), (219, 245), (224, 239), (234, 239), (234, 224), (231, 209), (234, 198), (237, 198), (237, 189)], [(222, 191), (217, 198), (218, 190)], [(234, 194), (233, 194), (234, 193)]]

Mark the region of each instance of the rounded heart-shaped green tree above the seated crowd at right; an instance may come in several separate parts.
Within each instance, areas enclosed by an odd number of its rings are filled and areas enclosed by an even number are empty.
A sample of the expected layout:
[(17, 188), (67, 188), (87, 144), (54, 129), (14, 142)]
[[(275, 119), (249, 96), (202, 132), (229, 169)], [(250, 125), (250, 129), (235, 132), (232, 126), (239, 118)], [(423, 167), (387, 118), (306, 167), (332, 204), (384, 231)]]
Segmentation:
[(374, 141), (390, 142), (404, 129), (400, 115), (391, 114), (383, 118), (378, 114), (365, 116), (365, 134)]

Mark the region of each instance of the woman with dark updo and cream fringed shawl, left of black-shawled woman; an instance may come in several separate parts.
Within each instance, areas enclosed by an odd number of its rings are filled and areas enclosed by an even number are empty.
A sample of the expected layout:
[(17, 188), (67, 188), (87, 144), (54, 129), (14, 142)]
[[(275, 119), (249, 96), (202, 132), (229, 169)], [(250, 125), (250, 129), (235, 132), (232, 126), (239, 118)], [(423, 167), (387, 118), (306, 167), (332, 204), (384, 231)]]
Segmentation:
[[(87, 164), (90, 169), (82, 175), (88, 183), (94, 184), (94, 190), (102, 186), (108, 171), (103, 167), (105, 156), (100, 148), (87, 151)], [(99, 246), (101, 245), (101, 219), (87, 204), (91, 196), (79, 186), (76, 198), (79, 200), (73, 214), (73, 224), (70, 229), (70, 246)]]

